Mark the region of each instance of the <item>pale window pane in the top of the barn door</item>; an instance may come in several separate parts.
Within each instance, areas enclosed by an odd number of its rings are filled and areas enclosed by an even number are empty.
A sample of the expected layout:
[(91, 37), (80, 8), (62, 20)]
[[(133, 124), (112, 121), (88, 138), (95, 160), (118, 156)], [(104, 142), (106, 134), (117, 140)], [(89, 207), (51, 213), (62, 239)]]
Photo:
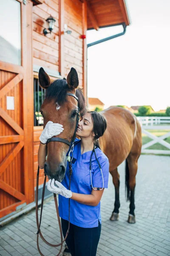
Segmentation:
[(18, 1), (0, 1), (0, 24), (0, 61), (21, 65), (21, 10)]

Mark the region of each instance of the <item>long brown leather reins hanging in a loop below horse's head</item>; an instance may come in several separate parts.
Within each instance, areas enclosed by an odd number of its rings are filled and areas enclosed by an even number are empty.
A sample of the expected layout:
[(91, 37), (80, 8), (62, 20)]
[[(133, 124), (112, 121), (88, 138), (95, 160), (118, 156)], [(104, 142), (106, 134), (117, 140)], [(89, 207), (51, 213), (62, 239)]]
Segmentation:
[[(58, 210), (58, 203), (57, 203), (57, 197), (56, 194), (54, 193), (54, 202), (55, 202), (55, 207), (56, 207), (56, 212), (57, 212), (57, 219), (58, 219), (58, 223), (59, 223), (59, 231), (60, 231), (60, 236), (61, 236), (61, 243), (60, 244), (51, 244), (49, 243), (43, 236), (40, 230), (40, 226), (41, 226), (41, 220), (42, 220), (42, 209), (43, 209), (43, 203), (44, 203), (44, 195), (45, 195), (45, 184), (46, 184), (46, 174), (45, 174), (45, 178), (44, 178), (44, 183), (43, 183), (43, 188), (42, 188), (42, 199), (41, 199), (41, 211), (40, 211), (40, 222), (38, 219), (38, 182), (39, 182), (39, 172), (40, 172), (40, 167), (38, 166), (37, 169), (37, 182), (36, 182), (36, 221), (37, 221), (37, 248), (38, 251), (40, 253), (41, 256), (44, 256), (44, 254), (42, 254), (40, 247), (39, 247), (39, 234), (41, 239), (48, 244), (51, 247), (59, 247), (61, 246), (59, 253), (57, 254), (57, 256), (60, 255), (61, 251), (62, 251), (62, 244), (65, 242), (65, 240), (67, 239), (68, 233), (69, 233), (69, 229), (70, 229), (70, 198), (68, 200), (68, 230), (66, 232), (65, 238), (64, 240), (62, 239), (62, 227), (61, 227), (61, 221), (59, 218), (59, 210)], [(71, 188), (71, 174), (72, 174), (72, 165), (71, 162), (69, 163), (69, 172), (70, 172), (70, 177), (69, 177), (69, 190)]]

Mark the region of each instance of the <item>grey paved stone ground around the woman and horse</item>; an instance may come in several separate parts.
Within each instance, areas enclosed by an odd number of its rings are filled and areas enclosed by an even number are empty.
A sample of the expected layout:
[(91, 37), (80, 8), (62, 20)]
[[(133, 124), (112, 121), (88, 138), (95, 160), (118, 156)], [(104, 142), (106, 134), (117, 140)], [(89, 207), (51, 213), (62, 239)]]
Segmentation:
[[(128, 224), (129, 203), (125, 201), (125, 163), (120, 174), (119, 221), (109, 220), (113, 211), (114, 187), (102, 198), (102, 233), (97, 256), (170, 256), (170, 157), (142, 155), (136, 177), (136, 224)], [(59, 243), (54, 201), (44, 205), (41, 231), (51, 243)], [(54, 221), (55, 220), (55, 221)], [(57, 229), (56, 229), (57, 227)], [(40, 256), (36, 245), (35, 210), (0, 229), (0, 256)], [(40, 240), (45, 256), (58, 250)]]

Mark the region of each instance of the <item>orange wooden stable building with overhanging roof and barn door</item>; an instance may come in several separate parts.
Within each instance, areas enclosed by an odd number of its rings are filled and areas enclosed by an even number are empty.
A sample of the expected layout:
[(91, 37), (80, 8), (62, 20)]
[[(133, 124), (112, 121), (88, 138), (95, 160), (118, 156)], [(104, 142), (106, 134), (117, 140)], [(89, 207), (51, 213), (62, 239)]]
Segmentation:
[[(48, 30), (46, 19), (55, 19)], [(129, 25), (124, 0), (0, 1), (0, 224), (34, 207), (44, 99), (38, 71), (51, 81), (71, 67), (87, 99), (88, 29)], [(50, 24), (49, 24), (50, 25)], [(90, 45), (89, 45), (90, 46)], [(43, 181), (40, 173), (40, 184)], [(41, 185), (40, 185), (41, 187)]]

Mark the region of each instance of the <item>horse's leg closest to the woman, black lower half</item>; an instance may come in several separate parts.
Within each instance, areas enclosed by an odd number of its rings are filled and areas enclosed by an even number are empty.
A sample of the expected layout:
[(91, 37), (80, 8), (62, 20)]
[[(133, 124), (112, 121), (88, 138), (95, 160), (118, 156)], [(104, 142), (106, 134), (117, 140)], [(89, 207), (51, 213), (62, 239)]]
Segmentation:
[(118, 221), (119, 220), (119, 207), (120, 207), (120, 201), (119, 201), (119, 186), (120, 186), (120, 180), (119, 180), (119, 173), (117, 171), (117, 168), (110, 172), (113, 178), (113, 184), (115, 187), (115, 202), (114, 202), (114, 210), (112, 212), (111, 221)]

